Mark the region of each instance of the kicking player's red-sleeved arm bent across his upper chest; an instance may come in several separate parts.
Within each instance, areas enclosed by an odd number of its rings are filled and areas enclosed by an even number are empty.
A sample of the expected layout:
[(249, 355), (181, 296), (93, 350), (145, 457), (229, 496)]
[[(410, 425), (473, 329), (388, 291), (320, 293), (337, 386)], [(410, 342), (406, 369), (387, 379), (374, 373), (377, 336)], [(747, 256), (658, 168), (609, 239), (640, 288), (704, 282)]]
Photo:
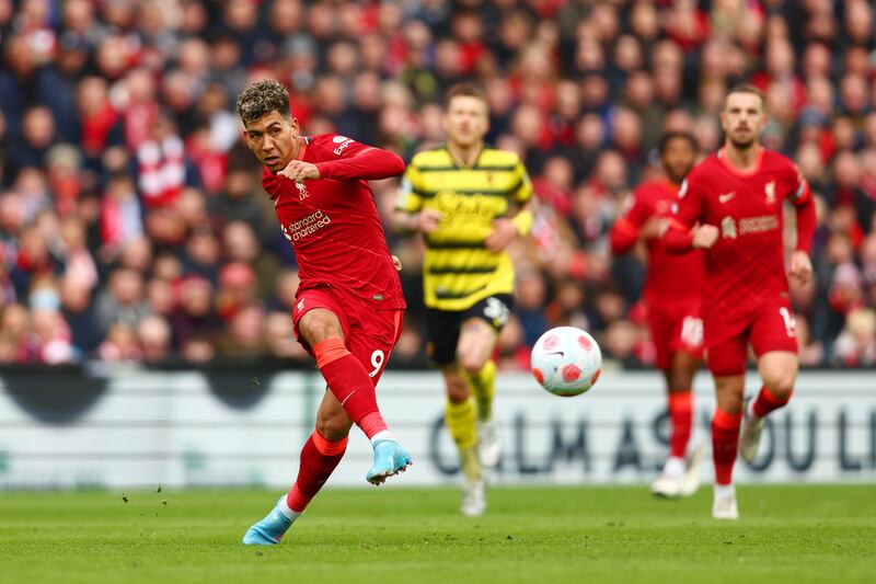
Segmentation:
[(366, 146), (350, 138), (334, 144), (336, 146), (333, 152), (337, 159), (316, 163), (292, 160), (278, 174), (296, 182), (313, 179), (379, 181), (404, 172), (404, 160), (394, 152)]

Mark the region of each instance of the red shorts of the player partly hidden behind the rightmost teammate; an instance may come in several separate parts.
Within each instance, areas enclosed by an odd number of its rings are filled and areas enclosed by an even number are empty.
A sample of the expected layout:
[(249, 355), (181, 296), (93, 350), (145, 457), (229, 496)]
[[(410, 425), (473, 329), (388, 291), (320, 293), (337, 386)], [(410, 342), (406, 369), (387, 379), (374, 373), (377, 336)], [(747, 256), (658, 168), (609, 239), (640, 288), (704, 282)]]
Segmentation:
[(648, 302), (648, 328), (657, 352), (657, 368), (669, 370), (672, 355), (688, 353), (703, 356), (703, 321), (700, 306)]

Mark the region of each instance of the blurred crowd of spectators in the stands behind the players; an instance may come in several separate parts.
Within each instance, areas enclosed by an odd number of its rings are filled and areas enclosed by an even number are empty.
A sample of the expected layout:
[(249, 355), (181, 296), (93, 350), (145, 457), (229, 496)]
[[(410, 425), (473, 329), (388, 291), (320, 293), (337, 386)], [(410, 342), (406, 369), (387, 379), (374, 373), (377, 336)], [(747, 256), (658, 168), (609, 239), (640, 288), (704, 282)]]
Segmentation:
[[(405, 159), (442, 141), (451, 84), (484, 87), (488, 139), (537, 198), (506, 368), (561, 323), (653, 364), (646, 257), (612, 257), (607, 232), (660, 134), (714, 151), (726, 89), (750, 80), (766, 146), (817, 194), (802, 363), (872, 366), (875, 23), (866, 0), (0, 0), (0, 364), (306, 360), (293, 256), (233, 113), (273, 77), (306, 133)], [(384, 217), (395, 187), (374, 184)], [(423, 365), (422, 243), (388, 238), (411, 307), (393, 359)]]

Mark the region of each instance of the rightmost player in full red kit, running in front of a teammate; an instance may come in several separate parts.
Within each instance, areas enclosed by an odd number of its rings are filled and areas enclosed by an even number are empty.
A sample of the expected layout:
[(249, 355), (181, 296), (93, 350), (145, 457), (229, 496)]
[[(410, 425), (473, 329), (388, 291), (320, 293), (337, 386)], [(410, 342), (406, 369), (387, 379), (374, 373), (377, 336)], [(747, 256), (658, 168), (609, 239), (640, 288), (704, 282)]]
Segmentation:
[[(797, 377), (782, 238), (785, 199), (794, 205), (797, 222), (787, 271), (800, 283), (812, 273), (812, 195), (794, 163), (758, 144), (765, 122), (763, 95), (756, 88), (730, 90), (721, 113), (726, 142), (690, 172), (664, 234), (670, 251), (705, 250), (703, 327), (717, 398), (712, 516), (718, 519), (739, 517), (733, 485), (737, 449), (744, 460), (754, 459), (764, 416), (787, 403)], [(744, 401), (749, 343), (763, 387)]]

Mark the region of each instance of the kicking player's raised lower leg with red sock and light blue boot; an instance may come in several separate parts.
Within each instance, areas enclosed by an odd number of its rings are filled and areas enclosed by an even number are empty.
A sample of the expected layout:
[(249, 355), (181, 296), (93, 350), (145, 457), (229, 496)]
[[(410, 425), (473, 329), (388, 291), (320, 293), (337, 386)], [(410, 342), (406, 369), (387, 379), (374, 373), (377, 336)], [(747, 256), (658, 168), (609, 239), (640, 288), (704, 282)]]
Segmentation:
[(395, 440), (383, 421), (374, 386), (359, 359), (347, 351), (339, 337), (318, 343), (313, 353), (332, 393), (374, 448), (374, 465), (366, 474), (368, 482), (381, 484), (387, 478), (403, 472), (411, 466), (411, 455)]

